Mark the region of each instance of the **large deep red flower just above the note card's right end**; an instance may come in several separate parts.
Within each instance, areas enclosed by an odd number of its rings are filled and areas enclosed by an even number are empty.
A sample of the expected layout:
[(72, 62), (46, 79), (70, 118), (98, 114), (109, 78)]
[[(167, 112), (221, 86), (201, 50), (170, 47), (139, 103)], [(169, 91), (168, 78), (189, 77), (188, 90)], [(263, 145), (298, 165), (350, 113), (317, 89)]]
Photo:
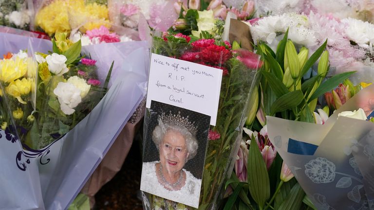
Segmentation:
[(210, 45), (201, 51), (203, 61), (212, 64), (224, 64), (232, 56), (224, 46)]

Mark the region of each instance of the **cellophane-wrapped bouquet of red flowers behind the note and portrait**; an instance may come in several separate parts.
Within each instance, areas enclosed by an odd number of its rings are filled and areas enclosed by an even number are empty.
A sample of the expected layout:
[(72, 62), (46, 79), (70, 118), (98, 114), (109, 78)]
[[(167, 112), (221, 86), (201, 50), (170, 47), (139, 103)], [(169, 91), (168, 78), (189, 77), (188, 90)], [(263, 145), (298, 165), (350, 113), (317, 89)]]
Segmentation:
[[(222, 196), (222, 185), (232, 171), (242, 138), (243, 116), (255, 85), (256, 70), (261, 66), (259, 56), (241, 49), (233, 50), (228, 41), (214, 39), (207, 32), (200, 38), (181, 33), (153, 36), (152, 53), (222, 70), (217, 122), (209, 129), (199, 205), (199, 209), (214, 209)], [(145, 123), (149, 117), (146, 114)], [(150, 194), (144, 199), (145, 208), (150, 209), (191, 208)]]

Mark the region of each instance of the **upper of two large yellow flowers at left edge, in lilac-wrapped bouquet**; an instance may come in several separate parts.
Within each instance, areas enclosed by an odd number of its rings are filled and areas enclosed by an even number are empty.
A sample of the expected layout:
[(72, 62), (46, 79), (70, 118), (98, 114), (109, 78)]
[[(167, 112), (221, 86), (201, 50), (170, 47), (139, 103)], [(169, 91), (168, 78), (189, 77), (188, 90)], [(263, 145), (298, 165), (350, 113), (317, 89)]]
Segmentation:
[(4, 59), (0, 61), (0, 67), (0, 80), (9, 83), (25, 75), (27, 62), (19, 57)]

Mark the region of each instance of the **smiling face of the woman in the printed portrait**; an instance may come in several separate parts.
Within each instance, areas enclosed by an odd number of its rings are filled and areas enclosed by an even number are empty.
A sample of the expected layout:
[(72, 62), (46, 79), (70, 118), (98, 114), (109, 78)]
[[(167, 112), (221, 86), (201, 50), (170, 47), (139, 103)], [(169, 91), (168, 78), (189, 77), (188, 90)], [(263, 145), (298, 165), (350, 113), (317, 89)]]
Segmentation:
[(177, 131), (168, 130), (160, 143), (160, 162), (168, 173), (183, 169), (187, 162), (186, 139)]

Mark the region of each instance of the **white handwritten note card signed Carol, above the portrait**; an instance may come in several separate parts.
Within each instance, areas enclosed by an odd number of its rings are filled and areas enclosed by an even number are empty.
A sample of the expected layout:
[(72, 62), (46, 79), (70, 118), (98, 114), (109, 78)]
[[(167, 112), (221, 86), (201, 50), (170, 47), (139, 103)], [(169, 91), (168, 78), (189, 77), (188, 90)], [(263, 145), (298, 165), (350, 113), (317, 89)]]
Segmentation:
[(146, 107), (151, 100), (210, 116), (216, 125), (222, 70), (152, 53)]

